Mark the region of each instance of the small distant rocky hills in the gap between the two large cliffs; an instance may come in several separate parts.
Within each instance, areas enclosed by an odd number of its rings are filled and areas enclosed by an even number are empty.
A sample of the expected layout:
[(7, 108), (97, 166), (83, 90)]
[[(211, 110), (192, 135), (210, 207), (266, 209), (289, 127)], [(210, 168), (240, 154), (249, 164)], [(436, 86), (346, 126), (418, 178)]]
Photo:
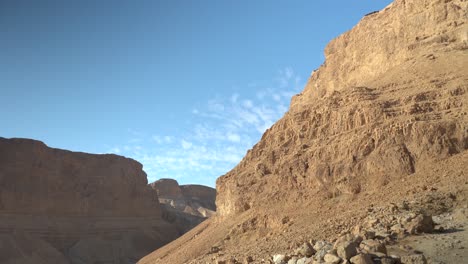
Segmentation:
[(180, 234), (215, 214), (216, 190), (202, 185), (179, 185), (173, 179), (150, 184), (159, 197), (163, 217), (174, 223)]

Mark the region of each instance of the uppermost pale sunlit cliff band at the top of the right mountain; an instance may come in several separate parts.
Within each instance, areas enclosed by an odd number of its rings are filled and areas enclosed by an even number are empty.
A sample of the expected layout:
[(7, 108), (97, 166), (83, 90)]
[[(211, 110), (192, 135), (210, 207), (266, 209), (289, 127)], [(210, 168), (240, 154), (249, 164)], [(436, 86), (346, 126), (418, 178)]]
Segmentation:
[(429, 53), (466, 50), (466, 7), (462, 0), (396, 0), (366, 15), (326, 46), (325, 63), (312, 73), (291, 108), (333, 91), (365, 85)]

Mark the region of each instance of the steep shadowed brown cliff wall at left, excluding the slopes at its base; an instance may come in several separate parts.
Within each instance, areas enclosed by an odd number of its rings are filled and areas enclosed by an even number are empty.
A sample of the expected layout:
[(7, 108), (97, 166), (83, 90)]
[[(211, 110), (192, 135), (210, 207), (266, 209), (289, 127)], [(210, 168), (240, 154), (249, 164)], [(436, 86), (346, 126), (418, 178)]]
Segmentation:
[(117, 155), (48, 148), (0, 138), (1, 212), (75, 216), (159, 216), (142, 165)]

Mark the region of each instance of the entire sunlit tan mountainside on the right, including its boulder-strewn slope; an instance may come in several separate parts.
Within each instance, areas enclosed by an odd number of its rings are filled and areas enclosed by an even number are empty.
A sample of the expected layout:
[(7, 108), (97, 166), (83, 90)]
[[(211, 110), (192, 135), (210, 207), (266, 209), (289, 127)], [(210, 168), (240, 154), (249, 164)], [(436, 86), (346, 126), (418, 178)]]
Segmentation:
[(468, 2), (396, 0), (325, 57), (217, 215), (139, 263), (468, 261)]

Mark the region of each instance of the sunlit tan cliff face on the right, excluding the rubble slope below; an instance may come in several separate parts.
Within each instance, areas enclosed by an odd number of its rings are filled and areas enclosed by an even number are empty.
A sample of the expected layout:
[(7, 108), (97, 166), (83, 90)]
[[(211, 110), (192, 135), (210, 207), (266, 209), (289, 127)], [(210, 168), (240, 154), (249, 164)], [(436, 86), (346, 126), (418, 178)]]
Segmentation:
[(467, 11), (397, 0), (331, 41), (285, 116), (217, 180), (218, 214), (372, 190), (466, 150)]

